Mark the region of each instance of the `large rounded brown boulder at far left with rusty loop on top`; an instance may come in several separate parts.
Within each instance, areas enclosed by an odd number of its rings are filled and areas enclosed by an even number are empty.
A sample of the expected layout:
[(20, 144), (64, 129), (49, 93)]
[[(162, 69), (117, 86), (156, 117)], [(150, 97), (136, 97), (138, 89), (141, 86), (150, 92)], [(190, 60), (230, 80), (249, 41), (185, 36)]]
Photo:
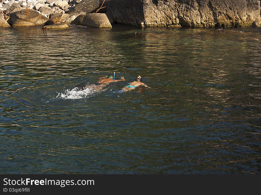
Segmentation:
[(10, 14), (8, 22), (11, 26), (19, 27), (43, 25), (47, 20), (48, 18), (33, 9), (29, 9), (29, 14), (26, 15), (26, 9), (23, 9)]

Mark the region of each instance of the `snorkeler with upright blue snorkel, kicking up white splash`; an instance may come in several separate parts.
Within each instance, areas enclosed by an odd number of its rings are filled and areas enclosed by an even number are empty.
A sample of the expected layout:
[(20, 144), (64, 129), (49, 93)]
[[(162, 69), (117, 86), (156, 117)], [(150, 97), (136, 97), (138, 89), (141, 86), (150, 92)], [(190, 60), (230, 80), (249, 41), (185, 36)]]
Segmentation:
[[(114, 74), (115, 75), (115, 74)], [(101, 77), (99, 78), (99, 80), (92, 84), (92, 85), (84, 85), (83, 83), (76, 86), (78, 87), (80, 90), (85, 90), (87, 88), (90, 88), (91, 90), (95, 90), (95, 91), (100, 91), (102, 90), (104, 87), (106, 87), (107, 85), (109, 85), (112, 82), (118, 82), (121, 80), (125, 80), (124, 77), (120, 77), (119, 80), (114, 80), (114, 77), (112, 75), (108, 75), (107, 77)]]

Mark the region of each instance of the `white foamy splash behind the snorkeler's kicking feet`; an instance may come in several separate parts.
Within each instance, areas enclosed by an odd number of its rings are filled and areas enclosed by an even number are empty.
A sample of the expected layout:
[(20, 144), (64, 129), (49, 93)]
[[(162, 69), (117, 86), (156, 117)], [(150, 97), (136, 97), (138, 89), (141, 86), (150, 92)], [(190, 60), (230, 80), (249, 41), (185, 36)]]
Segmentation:
[(93, 90), (93, 88), (89, 87), (85, 90), (79, 90), (79, 88), (75, 87), (73, 89), (67, 89), (64, 91), (64, 93), (58, 93), (56, 98), (61, 99), (82, 99), (82, 98), (88, 98), (95, 94), (97, 91)]

